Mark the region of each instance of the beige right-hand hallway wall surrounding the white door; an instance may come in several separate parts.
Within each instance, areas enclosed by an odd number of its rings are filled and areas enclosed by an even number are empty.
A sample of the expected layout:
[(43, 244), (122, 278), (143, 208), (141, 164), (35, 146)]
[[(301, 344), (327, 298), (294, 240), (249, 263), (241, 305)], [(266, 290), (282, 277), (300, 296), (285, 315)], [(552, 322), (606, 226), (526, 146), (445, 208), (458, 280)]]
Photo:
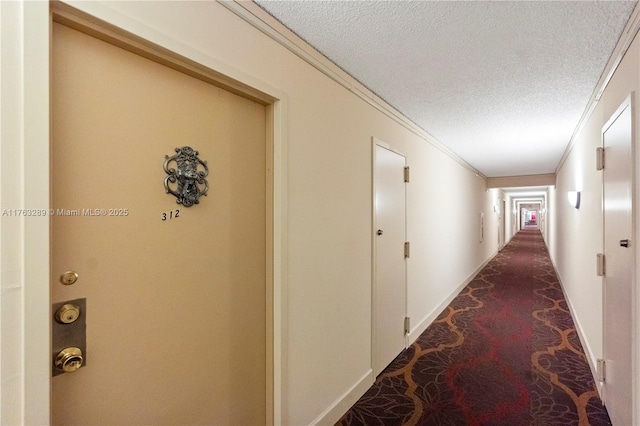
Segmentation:
[[(581, 330), (589, 361), (602, 357), (602, 278), (596, 276), (596, 253), (603, 250), (602, 174), (596, 171), (595, 150), (601, 146), (602, 126), (632, 91), (640, 89), (640, 41), (636, 39), (608, 84), (576, 143), (559, 168), (551, 191), (549, 248), (569, 303)], [(637, 100), (636, 100), (637, 102)], [(635, 120), (639, 123), (636, 104)], [(638, 140), (638, 126), (634, 137)], [(636, 149), (636, 153), (637, 153)], [(636, 168), (638, 162), (636, 161)], [(638, 185), (636, 185), (636, 191)], [(580, 209), (571, 207), (567, 191), (582, 191)], [(636, 192), (636, 200), (638, 194)], [(551, 208), (553, 207), (553, 208)], [(636, 208), (636, 215), (638, 209)], [(637, 220), (636, 220), (637, 223)], [(638, 241), (636, 234), (636, 241)], [(637, 285), (636, 285), (637, 287)], [(636, 295), (638, 292), (636, 291)], [(636, 296), (637, 297), (637, 296)], [(636, 301), (636, 305), (638, 305)], [(638, 347), (636, 328), (636, 354)], [(637, 363), (636, 363), (637, 365)], [(638, 377), (637, 372), (635, 376)], [(636, 381), (638, 386), (638, 381)], [(638, 401), (638, 398), (635, 398)], [(640, 419), (636, 406), (636, 421)]]

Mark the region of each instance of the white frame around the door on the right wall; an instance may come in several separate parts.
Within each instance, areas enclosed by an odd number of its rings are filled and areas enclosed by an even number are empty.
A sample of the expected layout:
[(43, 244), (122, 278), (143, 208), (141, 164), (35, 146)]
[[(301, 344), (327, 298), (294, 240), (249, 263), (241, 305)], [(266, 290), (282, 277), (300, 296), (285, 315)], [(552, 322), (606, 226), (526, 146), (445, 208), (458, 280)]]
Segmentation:
[[(631, 247), (634, 250), (633, 264), (631, 265), (631, 317), (632, 317), (632, 326), (631, 326), (631, 416), (634, 424), (640, 421), (640, 402), (638, 402), (638, 397), (640, 397), (640, 378), (638, 378), (638, 374), (640, 373), (640, 325), (638, 324), (638, 319), (640, 318), (640, 289), (638, 288), (638, 276), (640, 276), (640, 271), (638, 271), (638, 267), (640, 264), (638, 262), (638, 242), (640, 242), (640, 229), (637, 226), (638, 220), (640, 220), (640, 212), (638, 211), (638, 191), (640, 191), (640, 183), (637, 181), (640, 178), (638, 174), (637, 167), (640, 164), (640, 150), (636, 149), (635, 144), (638, 140), (636, 135), (636, 131), (638, 129), (636, 121), (638, 120), (638, 108), (635, 103), (636, 94), (635, 92), (631, 92), (625, 99), (622, 101), (619, 106), (615, 109), (615, 111), (610, 115), (605, 124), (602, 126), (600, 131), (600, 145), (604, 148), (604, 134), (605, 132), (615, 123), (618, 117), (624, 112), (625, 109), (630, 108), (631, 113)], [(605, 153), (606, 155), (606, 153)], [(605, 159), (606, 161), (606, 159)], [(606, 163), (605, 163), (606, 167)], [(602, 253), (605, 253), (605, 193), (604, 193), (604, 173), (601, 175), (601, 188), (602, 188)], [(606, 253), (605, 253), (606, 255)], [(606, 260), (605, 260), (606, 262)], [(606, 286), (606, 272), (602, 277), (602, 348), (601, 353), (603, 358), (606, 356), (605, 354), (605, 309), (606, 309), (606, 298), (605, 298), (605, 288)], [(606, 370), (606, 367), (605, 367)], [(606, 384), (596, 381), (598, 386), (598, 391), (602, 396), (602, 400), (606, 405)], [(603, 389), (603, 386), (605, 388)], [(603, 392), (604, 391), (604, 392)]]

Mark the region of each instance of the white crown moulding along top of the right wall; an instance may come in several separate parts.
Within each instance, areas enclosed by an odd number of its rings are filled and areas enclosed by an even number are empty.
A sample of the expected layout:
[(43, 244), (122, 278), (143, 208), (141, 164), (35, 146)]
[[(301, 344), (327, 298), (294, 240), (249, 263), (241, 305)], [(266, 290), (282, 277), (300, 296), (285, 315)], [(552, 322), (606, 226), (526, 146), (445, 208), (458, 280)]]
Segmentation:
[[(638, 3), (635, 9), (633, 9), (633, 12), (629, 17), (629, 21), (627, 22), (627, 25), (625, 26), (622, 32), (622, 35), (620, 36), (620, 39), (616, 44), (616, 47), (613, 49), (613, 52), (611, 53), (611, 57), (609, 58), (609, 61), (607, 62), (607, 65), (605, 66), (604, 71), (600, 76), (600, 79), (598, 80), (598, 84), (596, 84), (596, 87), (593, 90), (591, 97), (589, 98), (589, 102), (587, 103), (587, 106), (584, 112), (582, 113), (582, 117), (580, 117), (580, 121), (578, 121), (578, 125), (574, 129), (573, 134), (571, 135), (571, 139), (569, 139), (569, 144), (567, 145), (567, 148), (565, 149), (564, 154), (562, 154), (562, 157), (560, 158), (560, 162), (556, 166), (556, 170), (555, 170), (556, 175), (560, 172), (560, 169), (562, 169), (564, 162), (567, 161), (569, 154), (571, 154), (571, 151), (573, 150), (573, 147), (577, 142), (576, 141), (577, 136), (580, 134), (585, 124), (587, 124), (587, 121), (589, 121), (589, 118), (591, 117), (591, 114), (595, 110), (596, 105), (600, 101), (600, 98), (602, 97), (604, 90), (609, 85), (609, 82), (611, 81), (611, 79), (613, 78), (613, 75), (615, 74), (616, 70), (620, 66), (620, 63), (622, 62), (624, 55), (627, 53), (627, 50), (629, 50), (629, 47), (631, 46), (631, 43), (633, 43), (633, 39), (638, 34), (639, 30), (640, 30), (640, 3)], [(640, 417), (640, 414), (639, 414), (639, 417)]]

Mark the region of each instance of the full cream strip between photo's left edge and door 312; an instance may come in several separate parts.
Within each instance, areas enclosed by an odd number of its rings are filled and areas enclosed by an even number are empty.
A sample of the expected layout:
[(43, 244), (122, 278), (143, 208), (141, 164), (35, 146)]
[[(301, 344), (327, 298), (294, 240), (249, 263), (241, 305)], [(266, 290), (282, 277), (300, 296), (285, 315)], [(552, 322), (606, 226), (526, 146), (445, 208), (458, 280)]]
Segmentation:
[[(49, 206), (49, 4), (0, 2), (3, 209)], [(49, 221), (3, 216), (0, 423), (49, 422)]]

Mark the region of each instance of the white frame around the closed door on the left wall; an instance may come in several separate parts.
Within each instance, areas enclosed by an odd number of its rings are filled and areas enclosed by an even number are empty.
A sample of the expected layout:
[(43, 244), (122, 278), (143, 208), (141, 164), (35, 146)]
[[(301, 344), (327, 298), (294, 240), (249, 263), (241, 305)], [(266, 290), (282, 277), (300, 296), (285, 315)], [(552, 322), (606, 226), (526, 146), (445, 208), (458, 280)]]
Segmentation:
[[(401, 151), (395, 149), (391, 145), (386, 142), (381, 141), (376, 137), (371, 138), (371, 372), (372, 372), (372, 383), (375, 381), (375, 361), (376, 361), (376, 267), (377, 267), (377, 259), (376, 259), (376, 146), (387, 149), (391, 152), (394, 152), (405, 159), (405, 166), (407, 165), (406, 159), (407, 156), (403, 154)], [(407, 194), (407, 185), (404, 187), (404, 215), (405, 215), (405, 229), (404, 235), (405, 240), (407, 240), (408, 235), (408, 221), (407, 221), (407, 204), (408, 204), (408, 194)], [(405, 317), (409, 315), (408, 313), (408, 298), (409, 298), (409, 290), (408, 290), (408, 262), (405, 259), (404, 262), (404, 312)], [(409, 333), (404, 334), (404, 347), (405, 349), (409, 344)]]

